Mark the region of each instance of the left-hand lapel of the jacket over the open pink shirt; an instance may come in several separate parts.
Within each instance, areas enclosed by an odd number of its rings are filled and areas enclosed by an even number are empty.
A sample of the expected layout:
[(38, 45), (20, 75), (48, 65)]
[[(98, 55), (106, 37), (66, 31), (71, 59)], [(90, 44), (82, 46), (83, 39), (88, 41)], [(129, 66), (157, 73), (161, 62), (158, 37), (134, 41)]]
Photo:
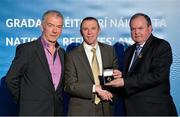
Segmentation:
[(41, 43), (41, 39), (40, 38), (37, 40), (36, 44), (37, 44), (36, 45), (36, 47), (37, 47), (36, 48), (37, 56), (39, 57), (39, 60), (40, 60), (40, 62), (42, 64), (44, 70), (46, 71), (48, 78), (52, 82), (51, 72), (49, 70), (48, 62), (47, 62), (46, 55), (45, 55), (45, 52), (44, 52), (44, 48), (43, 48), (43, 45)]

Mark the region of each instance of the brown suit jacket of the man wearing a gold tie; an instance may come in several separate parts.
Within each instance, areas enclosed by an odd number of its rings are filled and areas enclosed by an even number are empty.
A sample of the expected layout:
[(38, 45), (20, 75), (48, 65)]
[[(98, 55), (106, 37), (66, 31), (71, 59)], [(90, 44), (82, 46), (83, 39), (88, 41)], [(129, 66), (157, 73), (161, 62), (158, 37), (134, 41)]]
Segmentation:
[[(113, 47), (99, 43), (103, 68), (118, 69)], [(67, 53), (65, 57), (65, 91), (70, 94), (69, 115), (95, 115), (94, 79), (83, 44)], [(104, 115), (111, 114), (110, 102), (103, 102)]]

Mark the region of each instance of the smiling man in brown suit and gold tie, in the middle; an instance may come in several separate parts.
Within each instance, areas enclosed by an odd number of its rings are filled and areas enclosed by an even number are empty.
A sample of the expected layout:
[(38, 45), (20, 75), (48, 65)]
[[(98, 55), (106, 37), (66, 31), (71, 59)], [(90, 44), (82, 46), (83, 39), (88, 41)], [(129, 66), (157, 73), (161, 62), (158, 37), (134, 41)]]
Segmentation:
[[(91, 49), (96, 48), (100, 74), (104, 68), (114, 69), (113, 76), (121, 77), (113, 47), (97, 41), (100, 26), (97, 19), (86, 17), (81, 22), (84, 42), (65, 57), (65, 91), (70, 95), (68, 115), (99, 116), (112, 115), (112, 93), (96, 84)], [(96, 77), (97, 78), (97, 77)], [(95, 104), (95, 95), (100, 102)]]

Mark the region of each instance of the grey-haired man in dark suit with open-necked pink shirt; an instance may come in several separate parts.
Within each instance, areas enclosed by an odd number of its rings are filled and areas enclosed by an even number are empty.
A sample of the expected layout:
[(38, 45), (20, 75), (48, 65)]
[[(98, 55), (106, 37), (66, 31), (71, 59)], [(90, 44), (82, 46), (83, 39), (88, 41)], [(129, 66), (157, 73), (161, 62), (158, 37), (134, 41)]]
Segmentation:
[(63, 27), (60, 12), (42, 18), (42, 36), (21, 44), (6, 75), (19, 115), (63, 115), (64, 50), (57, 43)]

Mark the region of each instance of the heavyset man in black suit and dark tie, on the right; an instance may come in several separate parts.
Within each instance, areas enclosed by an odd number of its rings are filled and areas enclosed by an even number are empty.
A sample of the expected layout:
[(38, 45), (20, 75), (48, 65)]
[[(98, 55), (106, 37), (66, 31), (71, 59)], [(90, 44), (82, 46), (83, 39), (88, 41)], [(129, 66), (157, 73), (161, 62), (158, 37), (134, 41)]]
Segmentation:
[(130, 28), (135, 44), (125, 52), (124, 78), (107, 85), (124, 88), (127, 115), (177, 115), (170, 95), (169, 43), (152, 35), (151, 20), (145, 14), (132, 16)]

